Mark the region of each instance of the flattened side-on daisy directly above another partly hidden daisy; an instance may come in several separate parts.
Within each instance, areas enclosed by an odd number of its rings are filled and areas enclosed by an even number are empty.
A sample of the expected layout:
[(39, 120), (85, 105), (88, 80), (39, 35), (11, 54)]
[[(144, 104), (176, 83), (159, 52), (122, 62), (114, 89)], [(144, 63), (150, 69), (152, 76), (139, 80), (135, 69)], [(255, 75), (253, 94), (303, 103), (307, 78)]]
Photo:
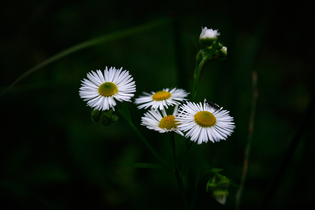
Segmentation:
[(139, 96), (139, 98), (135, 99), (135, 104), (143, 103), (138, 106), (139, 109), (146, 109), (152, 106), (155, 110), (157, 110), (157, 108), (163, 110), (164, 107), (169, 108), (168, 105), (173, 106), (173, 104), (181, 104), (182, 101), (187, 101), (184, 97), (188, 96), (189, 93), (183, 89), (173, 88), (169, 90), (169, 88), (166, 88), (157, 92), (152, 91), (151, 94), (146, 92), (143, 92), (143, 94), (145, 96)]

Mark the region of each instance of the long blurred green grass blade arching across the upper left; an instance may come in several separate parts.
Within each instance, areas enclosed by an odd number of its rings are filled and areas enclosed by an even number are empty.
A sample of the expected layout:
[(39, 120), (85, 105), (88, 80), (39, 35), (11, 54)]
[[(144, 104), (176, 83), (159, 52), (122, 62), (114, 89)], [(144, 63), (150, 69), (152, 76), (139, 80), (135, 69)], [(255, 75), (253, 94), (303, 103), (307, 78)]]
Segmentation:
[(149, 23), (144, 24), (144, 25), (135, 26), (135, 27), (132, 27), (129, 29), (124, 29), (124, 30), (120, 30), (117, 32), (105, 34), (105, 35), (97, 37), (97, 38), (92, 38), (92, 39), (89, 39), (87, 41), (76, 44), (76, 45), (74, 45), (74, 46), (72, 46), (66, 50), (62, 50), (61, 52), (51, 56), (50, 58), (37, 64), (36, 66), (32, 67), (31, 69), (29, 69), (25, 73), (23, 73), (11, 85), (9, 85), (5, 90), (3, 90), (3, 92), (0, 94), (0, 97), (2, 97), (6, 92), (8, 92), (11, 88), (13, 88), (14, 85), (19, 83), (21, 80), (26, 78), (28, 75), (36, 72), (37, 70), (47, 66), (48, 64), (50, 64), (54, 61), (57, 61), (61, 58), (66, 57), (67, 55), (70, 55), (74, 52), (77, 52), (79, 50), (83, 50), (83, 49), (88, 48), (88, 47), (95, 46), (97, 44), (110, 42), (113, 40), (117, 40), (117, 39), (124, 38), (124, 37), (130, 36), (130, 35), (141, 33), (141, 32), (146, 32), (146, 31), (152, 30), (158, 26), (164, 25), (168, 22), (169, 22), (168, 19), (161, 19), (161, 20), (157, 20), (157, 21), (152, 21), (152, 22), (149, 22)]

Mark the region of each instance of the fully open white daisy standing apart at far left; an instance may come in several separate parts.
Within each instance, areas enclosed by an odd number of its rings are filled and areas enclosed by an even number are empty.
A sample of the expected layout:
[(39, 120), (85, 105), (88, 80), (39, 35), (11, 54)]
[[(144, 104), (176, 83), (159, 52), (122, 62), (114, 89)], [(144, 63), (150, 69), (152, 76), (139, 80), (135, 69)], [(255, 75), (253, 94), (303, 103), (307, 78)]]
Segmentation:
[(131, 82), (133, 78), (130, 78), (129, 71), (122, 72), (123, 67), (119, 70), (115, 67), (111, 67), (109, 70), (104, 70), (104, 76), (100, 70), (96, 70), (96, 73), (88, 73), (88, 79), (84, 79), (82, 87), (79, 90), (79, 95), (84, 98), (83, 101), (88, 101), (88, 106), (94, 107), (94, 109), (108, 110), (112, 108), (115, 111), (114, 106), (117, 101), (130, 101), (130, 98), (134, 96), (131, 94), (136, 91), (135, 82)]

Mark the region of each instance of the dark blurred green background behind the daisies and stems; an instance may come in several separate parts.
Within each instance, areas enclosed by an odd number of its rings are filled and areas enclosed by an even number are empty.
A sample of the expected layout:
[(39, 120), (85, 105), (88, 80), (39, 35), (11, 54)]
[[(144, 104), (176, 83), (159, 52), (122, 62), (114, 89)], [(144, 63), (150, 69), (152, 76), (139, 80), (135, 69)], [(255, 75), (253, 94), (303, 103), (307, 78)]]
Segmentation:
[[(90, 119), (79, 97), (91, 70), (123, 67), (137, 89), (180, 87), (192, 92), (201, 26), (219, 29), (226, 61), (207, 62), (203, 96), (230, 110), (236, 125), (226, 141), (192, 151), (239, 184), (252, 97), (258, 74), (257, 112), (241, 209), (256, 209), (274, 178), (312, 95), (314, 22), (303, 1), (8, 1), (0, 9), (1, 91), (50, 56), (90, 38), (168, 19), (153, 30), (85, 49), (56, 61), (0, 98), (0, 193), (3, 206), (33, 209), (182, 209), (175, 177), (117, 162), (158, 163), (121, 119), (104, 127)], [(121, 105), (121, 103), (118, 103)], [(134, 125), (172, 164), (168, 134), (140, 125), (145, 110), (128, 103)], [(314, 116), (308, 116), (314, 118)], [(314, 207), (312, 125), (269, 209)], [(175, 137), (179, 145), (185, 139)], [(188, 202), (197, 169), (184, 178)], [(191, 181), (189, 181), (191, 180)], [(223, 206), (205, 188), (195, 209), (233, 209), (236, 189)]]

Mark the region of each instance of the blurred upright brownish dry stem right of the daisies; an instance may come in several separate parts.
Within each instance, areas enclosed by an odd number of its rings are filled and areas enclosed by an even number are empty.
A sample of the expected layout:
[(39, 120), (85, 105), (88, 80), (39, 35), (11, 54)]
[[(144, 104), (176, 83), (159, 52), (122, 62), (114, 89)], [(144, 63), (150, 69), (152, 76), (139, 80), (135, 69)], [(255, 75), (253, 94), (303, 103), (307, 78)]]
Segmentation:
[(250, 155), (250, 150), (252, 146), (254, 119), (255, 119), (255, 113), (256, 113), (256, 102), (257, 102), (257, 97), (258, 97), (256, 72), (252, 73), (252, 90), (253, 90), (253, 98), (252, 98), (252, 104), (251, 104), (250, 116), (249, 116), (247, 144), (245, 146), (245, 152), (244, 152), (243, 172), (242, 172), (242, 177), (241, 177), (240, 188), (236, 191), (236, 195), (235, 195), (236, 210), (239, 209), (239, 206), (241, 203), (241, 195), (244, 190), (244, 184), (245, 184), (247, 170), (248, 170), (249, 155)]

